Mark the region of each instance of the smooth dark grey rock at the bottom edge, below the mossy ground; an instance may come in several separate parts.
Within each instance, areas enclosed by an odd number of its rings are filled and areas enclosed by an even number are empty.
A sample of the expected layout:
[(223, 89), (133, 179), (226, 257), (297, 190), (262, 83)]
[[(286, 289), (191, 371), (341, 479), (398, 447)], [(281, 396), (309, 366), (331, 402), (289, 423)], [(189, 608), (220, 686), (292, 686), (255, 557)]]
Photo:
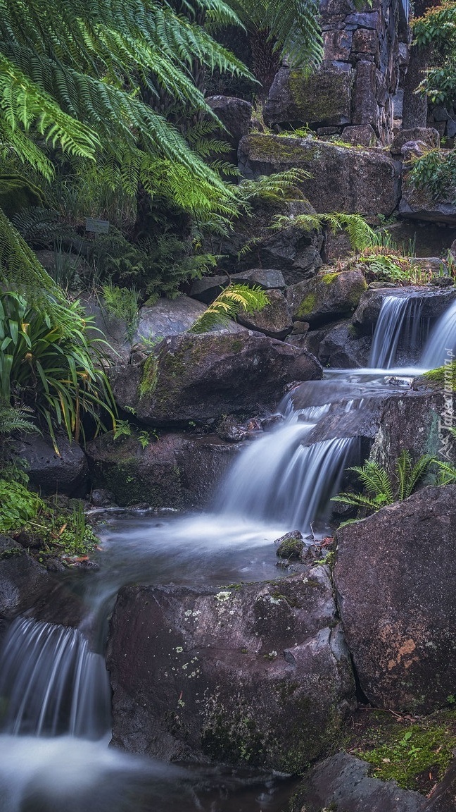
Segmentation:
[(347, 753), (320, 762), (305, 776), (292, 812), (421, 812), (426, 798), (395, 781), (371, 778), (371, 765)]

